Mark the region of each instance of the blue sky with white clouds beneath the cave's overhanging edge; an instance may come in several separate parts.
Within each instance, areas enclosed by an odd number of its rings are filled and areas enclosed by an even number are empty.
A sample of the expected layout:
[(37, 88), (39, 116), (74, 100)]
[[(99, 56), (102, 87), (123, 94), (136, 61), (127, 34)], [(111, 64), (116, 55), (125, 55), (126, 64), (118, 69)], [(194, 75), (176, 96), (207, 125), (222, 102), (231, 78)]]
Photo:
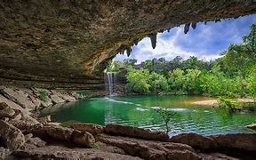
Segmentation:
[[(256, 15), (244, 16), (239, 19), (221, 20), (221, 22), (197, 23), (196, 29), (190, 28), (184, 34), (184, 25), (172, 28), (168, 33), (159, 33), (155, 50), (152, 49), (150, 39), (145, 37), (137, 46), (132, 47), (129, 58), (138, 62), (153, 58), (164, 57), (172, 60), (176, 56), (188, 59), (196, 56), (200, 60), (214, 60), (220, 57), (220, 52), (228, 49), (229, 44), (241, 44), (242, 36), (250, 31), (250, 25), (256, 23)], [(115, 60), (127, 59), (117, 54)]]

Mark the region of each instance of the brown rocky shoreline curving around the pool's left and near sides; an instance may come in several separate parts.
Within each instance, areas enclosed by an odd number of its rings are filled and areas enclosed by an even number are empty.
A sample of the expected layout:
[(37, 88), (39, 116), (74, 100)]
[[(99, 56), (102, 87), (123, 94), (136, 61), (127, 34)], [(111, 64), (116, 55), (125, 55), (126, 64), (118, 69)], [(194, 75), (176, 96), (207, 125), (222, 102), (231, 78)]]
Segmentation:
[[(256, 134), (169, 138), (163, 132), (108, 124), (62, 127), (32, 112), (77, 100), (76, 92), (0, 88), (0, 159), (255, 159)], [(47, 92), (40, 99), (40, 92)], [(47, 101), (47, 102), (46, 102)], [(51, 103), (50, 103), (51, 101)]]

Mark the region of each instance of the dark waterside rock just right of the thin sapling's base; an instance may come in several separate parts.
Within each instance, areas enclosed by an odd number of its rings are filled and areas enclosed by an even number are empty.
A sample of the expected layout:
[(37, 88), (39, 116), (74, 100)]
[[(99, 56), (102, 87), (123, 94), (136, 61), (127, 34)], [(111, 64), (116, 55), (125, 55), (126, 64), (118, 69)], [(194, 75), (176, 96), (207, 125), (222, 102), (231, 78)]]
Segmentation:
[(204, 137), (196, 133), (184, 133), (177, 136), (173, 136), (169, 141), (175, 143), (187, 144), (193, 148), (216, 148), (216, 142), (209, 137)]

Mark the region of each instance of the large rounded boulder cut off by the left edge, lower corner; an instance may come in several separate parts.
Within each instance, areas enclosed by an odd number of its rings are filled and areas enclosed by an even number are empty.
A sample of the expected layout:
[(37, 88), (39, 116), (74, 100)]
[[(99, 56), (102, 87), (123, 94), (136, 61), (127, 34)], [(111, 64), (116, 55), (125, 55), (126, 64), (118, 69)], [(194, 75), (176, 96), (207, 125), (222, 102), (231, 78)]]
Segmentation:
[(22, 132), (14, 127), (0, 120), (0, 137), (4, 141), (7, 148), (17, 149), (25, 143), (25, 138)]

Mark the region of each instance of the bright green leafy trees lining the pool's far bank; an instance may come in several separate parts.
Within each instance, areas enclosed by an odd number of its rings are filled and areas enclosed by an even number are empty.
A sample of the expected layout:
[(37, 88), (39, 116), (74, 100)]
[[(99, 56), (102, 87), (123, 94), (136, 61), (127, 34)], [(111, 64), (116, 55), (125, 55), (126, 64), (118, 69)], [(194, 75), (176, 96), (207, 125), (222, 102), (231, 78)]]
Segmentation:
[[(182, 60), (164, 58), (114, 61), (109, 70), (126, 68), (129, 92), (140, 94), (207, 94), (228, 98), (256, 99), (256, 24), (243, 37), (243, 44), (230, 44), (217, 60), (197, 60), (191, 56)], [(113, 67), (115, 66), (115, 67)], [(123, 72), (123, 71), (122, 71)]]

